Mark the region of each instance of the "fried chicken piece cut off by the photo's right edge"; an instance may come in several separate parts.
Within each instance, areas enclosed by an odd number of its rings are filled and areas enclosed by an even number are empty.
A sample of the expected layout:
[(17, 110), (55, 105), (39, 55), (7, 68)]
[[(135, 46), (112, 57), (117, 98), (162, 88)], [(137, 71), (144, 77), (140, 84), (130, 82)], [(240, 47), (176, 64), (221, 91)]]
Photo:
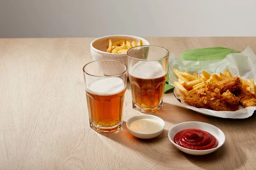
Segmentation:
[(241, 88), (241, 91), (238, 97), (240, 98), (240, 102), (244, 106), (244, 108), (250, 107), (250, 106), (256, 106), (255, 96), (251, 94), (249, 91), (247, 91), (246, 89)]

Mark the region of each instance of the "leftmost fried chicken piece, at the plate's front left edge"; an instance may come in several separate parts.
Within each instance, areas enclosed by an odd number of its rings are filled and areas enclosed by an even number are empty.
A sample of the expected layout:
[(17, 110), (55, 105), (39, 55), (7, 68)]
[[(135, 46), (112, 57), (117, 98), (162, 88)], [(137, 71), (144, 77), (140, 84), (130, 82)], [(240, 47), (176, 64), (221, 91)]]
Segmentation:
[(184, 102), (188, 103), (189, 105), (195, 106), (196, 108), (212, 109), (209, 105), (201, 102), (200, 96), (197, 94), (197, 92), (185, 96), (183, 100)]

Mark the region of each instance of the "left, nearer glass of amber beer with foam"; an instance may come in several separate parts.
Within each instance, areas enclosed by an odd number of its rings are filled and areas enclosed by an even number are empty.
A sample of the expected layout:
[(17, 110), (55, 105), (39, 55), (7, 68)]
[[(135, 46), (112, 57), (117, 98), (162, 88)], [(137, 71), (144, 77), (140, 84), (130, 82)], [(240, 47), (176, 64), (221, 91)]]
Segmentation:
[(127, 67), (114, 60), (84, 65), (84, 82), (90, 127), (99, 133), (122, 129)]

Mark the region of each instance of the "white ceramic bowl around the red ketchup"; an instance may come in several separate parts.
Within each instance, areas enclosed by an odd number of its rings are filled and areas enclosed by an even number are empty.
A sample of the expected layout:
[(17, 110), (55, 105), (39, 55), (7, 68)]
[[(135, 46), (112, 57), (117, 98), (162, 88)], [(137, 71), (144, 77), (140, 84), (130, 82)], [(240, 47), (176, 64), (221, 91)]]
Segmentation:
[[(186, 149), (185, 147), (181, 147), (177, 145), (173, 140), (174, 136), (181, 130), (185, 130), (185, 129), (200, 129), (208, 133), (211, 133), (217, 139), (218, 146), (208, 150), (191, 150), (191, 149)], [(206, 154), (212, 153), (218, 148), (220, 148), (225, 142), (225, 135), (218, 127), (215, 127), (213, 125), (210, 125), (204, 122), (183, 122), (183, 123), (177, 124), (174, 127), (172, 127), (171, 130), (169, 130), (168, 137), (169, 137), (169, 140), (172, 142), (172, 144), (175, 145), (175, 147), (177, 147), (179, 150), (190, 155), (206, 155)]]

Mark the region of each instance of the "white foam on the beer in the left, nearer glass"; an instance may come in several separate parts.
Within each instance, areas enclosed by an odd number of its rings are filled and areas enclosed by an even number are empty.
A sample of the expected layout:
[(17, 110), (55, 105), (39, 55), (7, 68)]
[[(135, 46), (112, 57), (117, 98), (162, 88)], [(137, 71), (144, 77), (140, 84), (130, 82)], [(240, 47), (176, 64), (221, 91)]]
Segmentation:
[(87, 91), (99, 96), (118, 94), (125, 89), (125, 83), (119, 77), (99, 78), (87, 84)]

